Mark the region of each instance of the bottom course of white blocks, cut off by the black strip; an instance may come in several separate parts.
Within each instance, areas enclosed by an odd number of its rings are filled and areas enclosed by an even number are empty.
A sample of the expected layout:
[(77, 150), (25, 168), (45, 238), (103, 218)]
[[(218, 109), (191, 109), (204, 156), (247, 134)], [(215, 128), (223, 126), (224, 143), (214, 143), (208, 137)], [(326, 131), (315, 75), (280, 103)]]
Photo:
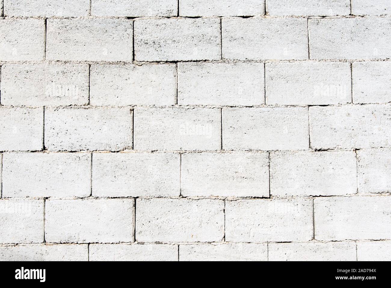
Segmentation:
[[(357, 246), (357, 250), (356, 250)], [(387, 261), (391, 241), (0, 246), (2, 261)], [(357, 256), (356, 256), (357, 254)]]

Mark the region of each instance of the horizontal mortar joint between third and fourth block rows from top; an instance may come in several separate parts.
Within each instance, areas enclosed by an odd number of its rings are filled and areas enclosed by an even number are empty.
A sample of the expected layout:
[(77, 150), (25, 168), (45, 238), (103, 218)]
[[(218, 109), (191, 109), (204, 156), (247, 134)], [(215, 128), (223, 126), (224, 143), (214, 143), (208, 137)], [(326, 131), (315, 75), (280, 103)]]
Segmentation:
[(297, 104), (297, 105), (251, 105), (251, 106), (221, 106), (221, 105), (68, 105), (68, 106), (50, 106), (50, 105), (42, 105), (42, 106), (24, 106), (24, 105), (0, 105), (1, 108), (31, 108), (31, 109), (39, 109), (39, 108), (47, 108), (47, 109), (102, 109), (102, 108), (129, 108), (130, 110), (133, 110), (135, 108), (151, 108), (151, 109), (183, 109), (183, 110), (190, 110), (194, 108), (205, 108), (205, 109), (237, 109), (237, 108), (307, 108), (307, 107), (346, 107), (346, 106), (373, 106), (373, 105), (383, 105), (383, 106), (390, 106), (391, 102), (388, 103), (346, 103), (346, 104), (317, 104), (317, 105), (303, 105), (303, 104)]

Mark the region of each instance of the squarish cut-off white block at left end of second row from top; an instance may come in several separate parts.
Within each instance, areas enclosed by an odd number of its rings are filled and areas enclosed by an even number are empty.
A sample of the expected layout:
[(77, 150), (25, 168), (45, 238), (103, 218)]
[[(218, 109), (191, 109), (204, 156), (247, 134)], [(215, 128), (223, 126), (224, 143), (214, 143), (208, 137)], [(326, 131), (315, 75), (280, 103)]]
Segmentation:
[(45, 20), (0, 20), (0, 61), (41, 61), (45, 57)]

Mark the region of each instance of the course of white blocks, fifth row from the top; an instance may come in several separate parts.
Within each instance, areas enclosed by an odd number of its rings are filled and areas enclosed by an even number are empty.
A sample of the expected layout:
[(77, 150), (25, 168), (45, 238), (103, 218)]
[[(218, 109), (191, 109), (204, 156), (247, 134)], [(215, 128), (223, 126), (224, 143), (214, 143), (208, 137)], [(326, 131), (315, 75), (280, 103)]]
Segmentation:
[(265, 152), (6, 152), (2, 196), (268, 198), (269, 193), (280, 197), (389, 193), (390, 156), (390, 149), (280, 151), (270, 156)]

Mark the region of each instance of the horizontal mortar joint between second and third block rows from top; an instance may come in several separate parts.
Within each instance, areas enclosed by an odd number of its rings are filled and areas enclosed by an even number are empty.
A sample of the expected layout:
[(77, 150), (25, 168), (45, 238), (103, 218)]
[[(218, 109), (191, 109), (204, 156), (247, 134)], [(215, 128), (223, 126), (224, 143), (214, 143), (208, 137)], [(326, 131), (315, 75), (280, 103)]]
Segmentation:
[(2, 65), (33, 65), (33, 64), (86, 64), (86, 65), (167, 65), (177, 63), (327, 63), (327, 62), (342, 62), (342, 63), (355, 63), (355, 62), (388, 62), (390, 58), (374, 58), (374, 59), (219, 59), (219, 60), (176, 60), (176, 61), (89, 61), (89, 60), (43, 60), (43, 61), (0, 61)]

